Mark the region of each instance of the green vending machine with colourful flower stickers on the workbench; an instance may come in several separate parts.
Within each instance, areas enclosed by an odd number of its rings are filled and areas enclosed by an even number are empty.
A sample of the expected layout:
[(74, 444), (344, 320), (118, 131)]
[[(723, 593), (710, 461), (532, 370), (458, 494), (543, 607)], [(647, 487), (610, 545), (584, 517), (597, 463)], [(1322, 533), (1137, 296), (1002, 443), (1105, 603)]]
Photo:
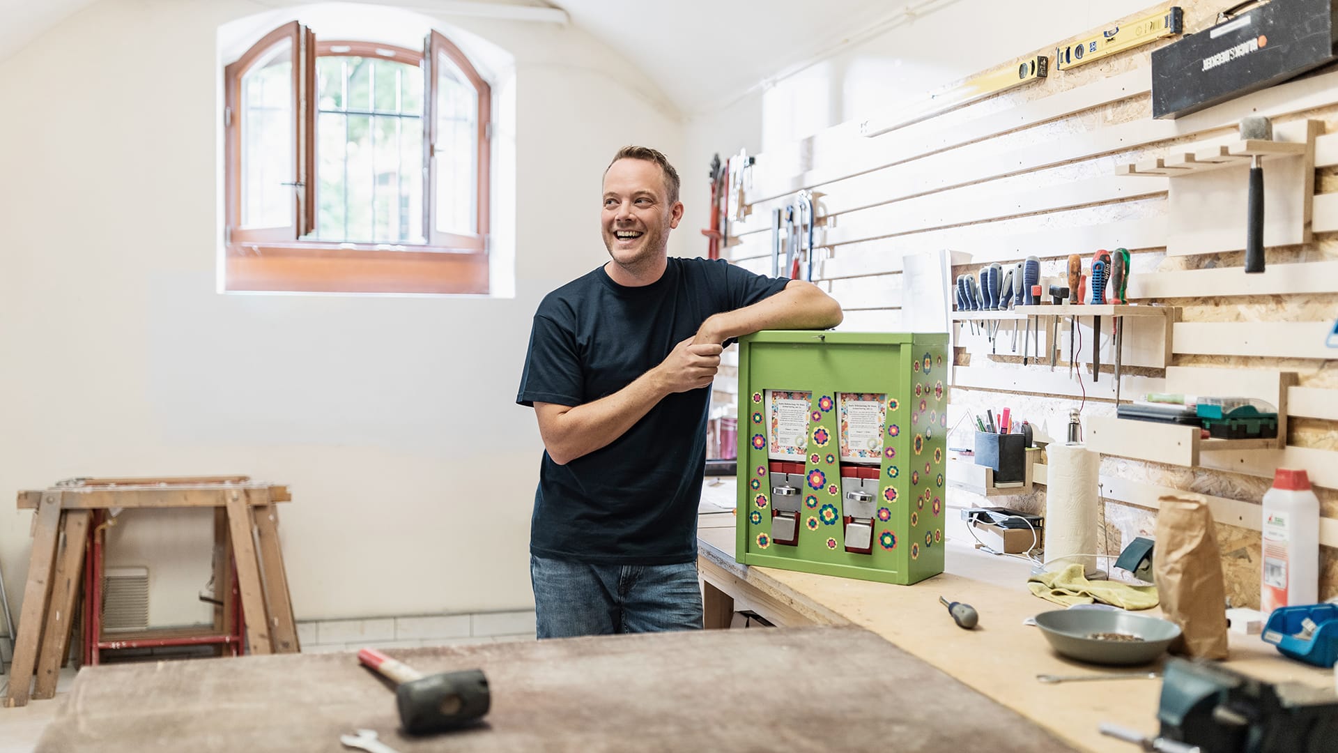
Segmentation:
[(947, 335), (739, 343), (735, 559), (900, 584), (943, 572)]

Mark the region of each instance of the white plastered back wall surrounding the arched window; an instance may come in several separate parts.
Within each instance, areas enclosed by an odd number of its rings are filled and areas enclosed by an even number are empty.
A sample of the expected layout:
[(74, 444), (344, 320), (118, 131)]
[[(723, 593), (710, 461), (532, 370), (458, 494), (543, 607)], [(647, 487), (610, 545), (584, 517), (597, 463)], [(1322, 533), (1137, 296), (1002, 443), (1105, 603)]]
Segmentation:
[[(499, 134), (514, 139), (499, 188), (514, 229), (495, 238), (514, 244), (515, 296), (218, 295), (215, 38), (273, 7), (102, 0), (0, 62), (0, 496), (248, 473), (292, 485), (281, 536), (300, 619), (527, 607), (542, 445), (514, 399), (530, 318), (606, 257), (613, 151), (680, 154), (682, 123), (577, 28), (450, 19), (515, 56)], [(116, 531), (111, 561), (166, 560), (175, 584), (155, 600), (193, 602), (203, 516), (143, 517)], [(0, 504), (16, 616), (29, 520)]]

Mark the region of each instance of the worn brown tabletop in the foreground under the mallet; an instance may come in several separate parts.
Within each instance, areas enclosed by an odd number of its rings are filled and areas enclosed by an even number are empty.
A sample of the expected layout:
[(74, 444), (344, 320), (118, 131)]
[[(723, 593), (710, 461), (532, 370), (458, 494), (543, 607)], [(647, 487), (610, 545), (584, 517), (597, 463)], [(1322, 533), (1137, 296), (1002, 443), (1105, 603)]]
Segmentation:
[[(1066, 752), (1032, 722), (855, 627), (702, 630), (387, 650), (434, 674), (482, 669), (486, 725), (396, 732), (355, 654), (112, 665), (79, 674), (39, 753), (329, 752), (376, 730), (400, 753)], [(134, 698), (126, 689), (134, 687)]]

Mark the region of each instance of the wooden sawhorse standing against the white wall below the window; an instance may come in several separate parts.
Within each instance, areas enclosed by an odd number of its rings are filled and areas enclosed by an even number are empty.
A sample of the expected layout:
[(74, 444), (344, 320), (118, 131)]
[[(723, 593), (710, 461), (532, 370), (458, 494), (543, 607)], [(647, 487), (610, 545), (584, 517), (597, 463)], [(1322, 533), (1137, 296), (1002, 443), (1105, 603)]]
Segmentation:
[[(227, 553), (237, 568), (246, 642), (253, 654), (296, 654), (297, 626), (288, 594), (284, 556), (278, 548), (276, 502), (292, 497), (288, 486), (250, 481), (246, 476), (167, 478), (80, 478), (50, 489), (19, 492), (19, 509), (36, 509), (28, 581), (13, 647), (5, 706), (51, 698), (62, 659), (70, 647), (75, 603), (84, 567), (84, 545), (94, 510), (114, 508), (215, 508), (215, 590), (223, 594), (215, 608), (215, 630), (231, 624), (234, 600), (227, 598)], [(90, 599), (91, 595), (84, 595)], [(100, 608), (100, 604), (90, 604)], [(86, 626), (84, 630), (88, 627)], [(99, 636), (94, 635), (94, 640)], [(39, 655), (40, 650), (40, 655)]]

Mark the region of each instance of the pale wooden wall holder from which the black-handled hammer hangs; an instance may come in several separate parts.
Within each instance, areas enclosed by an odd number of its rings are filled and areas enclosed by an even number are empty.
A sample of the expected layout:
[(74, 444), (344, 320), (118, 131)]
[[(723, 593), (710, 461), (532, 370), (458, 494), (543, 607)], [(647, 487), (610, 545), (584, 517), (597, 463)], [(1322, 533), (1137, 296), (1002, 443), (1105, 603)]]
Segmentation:
[(1116, 167), (1120, 176), (1175, 178), (1167, 194), (1168, 256), (1244, 251), (1248, 172), (1255, 155), (1264, 172), (1264, 247), (1311, 240), (1315, 138), (1319, 121), (1272, 129), (1272, 141), (1219, 138)]

